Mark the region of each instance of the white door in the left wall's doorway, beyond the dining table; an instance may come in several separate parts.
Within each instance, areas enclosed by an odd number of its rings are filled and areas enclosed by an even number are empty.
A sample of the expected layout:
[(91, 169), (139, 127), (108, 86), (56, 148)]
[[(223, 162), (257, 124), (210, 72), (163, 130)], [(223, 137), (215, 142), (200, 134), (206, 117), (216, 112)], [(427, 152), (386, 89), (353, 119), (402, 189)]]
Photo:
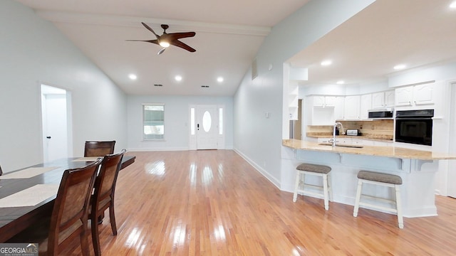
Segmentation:
[(43, 118), (43, 160), (68, 157), (67, 93), (56, 87), (41, 85)]

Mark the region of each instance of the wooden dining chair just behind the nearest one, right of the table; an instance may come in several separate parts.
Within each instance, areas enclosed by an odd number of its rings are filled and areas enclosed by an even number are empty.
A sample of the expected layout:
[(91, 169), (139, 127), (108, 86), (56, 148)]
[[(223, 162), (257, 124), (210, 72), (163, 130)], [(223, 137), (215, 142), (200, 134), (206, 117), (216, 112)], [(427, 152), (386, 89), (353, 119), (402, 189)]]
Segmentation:
[(93, 250), (95, 255), (101, 255), (100, 238), (98, 233), (99, 220), (103, 220), (104, 212), (109, 208), (109, 218), (113, 235), (117, 235), (114, 213), (115, 183), (122, 164), (125, 149), (118, 154), (108, 154), (103, 157), (100, 170), (95, 178), (93, 196), (90, 200), (90, 225), (92, 229)]

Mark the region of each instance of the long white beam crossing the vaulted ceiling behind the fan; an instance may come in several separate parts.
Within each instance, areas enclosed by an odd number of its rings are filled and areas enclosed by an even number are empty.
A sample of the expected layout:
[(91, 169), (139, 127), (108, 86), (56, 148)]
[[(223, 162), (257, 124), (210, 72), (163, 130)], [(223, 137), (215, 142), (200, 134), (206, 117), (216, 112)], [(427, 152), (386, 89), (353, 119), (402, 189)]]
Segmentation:
[(145, 18), (133, 16), (113, 16), (73, 13), (66, 11), (36, 11), (38, 16), (53, 23), (79, 23), (103, 26), (142, 27), (141, 22), (147, 24), (168, 24), (177, 31), (198, 31), (208, 33), (229, 33), (247, 36), (267, 36), (271, 32), (266, 26), (242, 26), (226, 23), (207, 23), (197, 21), (181, 21), (162, 18)]

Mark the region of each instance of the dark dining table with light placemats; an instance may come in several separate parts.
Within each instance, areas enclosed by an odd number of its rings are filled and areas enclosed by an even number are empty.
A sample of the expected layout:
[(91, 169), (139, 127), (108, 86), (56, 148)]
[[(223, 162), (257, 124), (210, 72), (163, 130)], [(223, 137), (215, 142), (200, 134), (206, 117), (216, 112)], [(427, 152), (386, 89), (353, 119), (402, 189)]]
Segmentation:
[[(90, 164), (98, 157), (73, 157), (28, 166), (0, 176), (0, 243), (51, 215), (63, 171)], [(123, 156), (120, 170), (135, 162)]]

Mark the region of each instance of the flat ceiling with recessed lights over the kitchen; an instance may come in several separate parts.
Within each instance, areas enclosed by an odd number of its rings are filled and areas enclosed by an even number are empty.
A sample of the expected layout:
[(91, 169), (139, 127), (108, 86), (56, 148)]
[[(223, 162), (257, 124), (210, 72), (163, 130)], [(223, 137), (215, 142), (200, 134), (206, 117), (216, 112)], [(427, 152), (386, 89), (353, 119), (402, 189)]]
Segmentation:
[[(455, 0), (377, 0), (289, 61), (309, 68), (304, 85), (363, 85), (456, 60)], [(323, 67), (322, 60), (332, 60)], [(456, 78), (456, 74), (455, 74)]]

